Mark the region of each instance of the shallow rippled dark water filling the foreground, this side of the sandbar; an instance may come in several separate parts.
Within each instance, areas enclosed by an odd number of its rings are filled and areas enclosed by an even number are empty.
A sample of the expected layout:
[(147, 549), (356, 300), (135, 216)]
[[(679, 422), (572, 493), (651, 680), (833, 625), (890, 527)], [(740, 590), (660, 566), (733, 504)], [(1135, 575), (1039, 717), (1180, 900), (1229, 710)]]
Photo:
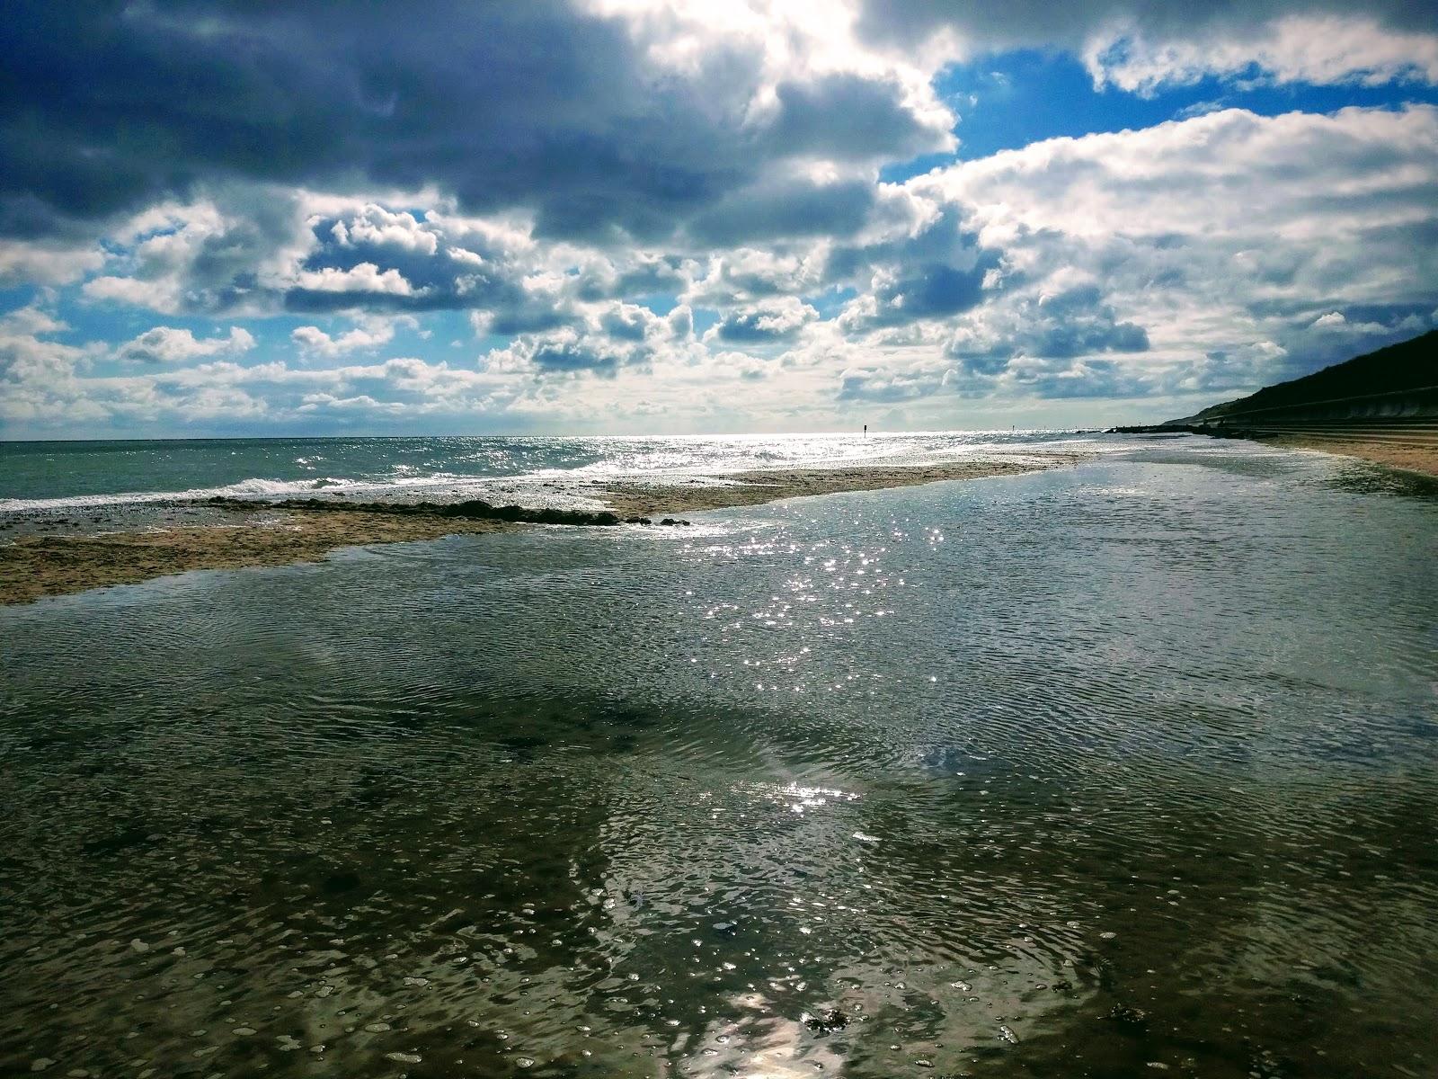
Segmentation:
[(1438, 1073), (1438, 498), (1103, 447), (0, 609), (0, 1072)]

